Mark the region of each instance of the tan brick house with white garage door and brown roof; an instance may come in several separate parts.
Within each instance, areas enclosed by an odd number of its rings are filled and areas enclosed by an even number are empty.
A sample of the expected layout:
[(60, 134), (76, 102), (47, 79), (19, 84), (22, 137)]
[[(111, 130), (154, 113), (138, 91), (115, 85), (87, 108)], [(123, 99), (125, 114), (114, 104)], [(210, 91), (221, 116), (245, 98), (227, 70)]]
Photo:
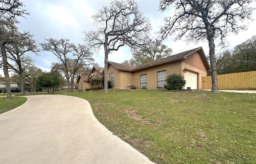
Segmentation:
[(207, 71), (210, 71), (210, 66), (202, 47), (135, 67), (108, 62), (108, 80), (117, 89), (130, 89), (131, 85), (136, 89), (164, 87), (166, 77), (174, 73), (184, 76), (184, 89), (202, 89), (202, 77), (207, 76)]

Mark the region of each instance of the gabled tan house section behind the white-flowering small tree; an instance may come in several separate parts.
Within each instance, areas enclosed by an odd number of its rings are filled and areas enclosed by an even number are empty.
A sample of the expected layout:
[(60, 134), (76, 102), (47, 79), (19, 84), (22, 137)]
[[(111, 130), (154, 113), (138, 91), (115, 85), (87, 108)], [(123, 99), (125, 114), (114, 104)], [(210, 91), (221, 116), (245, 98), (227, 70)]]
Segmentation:
[[(92, 67), (92, 71), (91, 73), (98, 73), (99, 75), (101, 75), (103, 77), (103, 72), (104, 72), (104, 68), (102, 67)], [(102, 78), (103, 80), (103, 78)], [(85, 91), (86, 89), (89, 88), (94, 88), (94, 83), (90, 82), (90, 75), (79, 75), (77, 82), (78, 83), (78, 90), (82, 90)], [(102, 83), (95, 83), (95, 87), (102, 87)]]

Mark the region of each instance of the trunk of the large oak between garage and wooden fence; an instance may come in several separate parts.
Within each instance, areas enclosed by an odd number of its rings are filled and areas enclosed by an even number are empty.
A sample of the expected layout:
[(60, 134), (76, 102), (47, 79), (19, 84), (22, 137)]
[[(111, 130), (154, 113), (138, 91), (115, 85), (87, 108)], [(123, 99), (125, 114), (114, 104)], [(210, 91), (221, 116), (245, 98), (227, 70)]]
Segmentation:
[(212, 92), (220, 92), (218, 89), (218, 80), (217, 80), (217, 63), (215, 57), (215, 45), (214, 38), (209, 37), (209, 55), (210, 55), (210, 63), (211, 63), (211, 75), (212, 75)]

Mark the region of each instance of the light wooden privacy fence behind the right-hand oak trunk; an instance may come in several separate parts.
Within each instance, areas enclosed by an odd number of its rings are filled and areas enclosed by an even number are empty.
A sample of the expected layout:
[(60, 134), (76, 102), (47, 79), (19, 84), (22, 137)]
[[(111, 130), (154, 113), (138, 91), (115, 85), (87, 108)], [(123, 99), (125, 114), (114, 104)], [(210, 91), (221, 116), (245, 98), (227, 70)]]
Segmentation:
[[(218, 75), (219, 89), (256, 88), (256, 71)], [(212, 89), (212, 76), (202, 77), (202, 89)]]

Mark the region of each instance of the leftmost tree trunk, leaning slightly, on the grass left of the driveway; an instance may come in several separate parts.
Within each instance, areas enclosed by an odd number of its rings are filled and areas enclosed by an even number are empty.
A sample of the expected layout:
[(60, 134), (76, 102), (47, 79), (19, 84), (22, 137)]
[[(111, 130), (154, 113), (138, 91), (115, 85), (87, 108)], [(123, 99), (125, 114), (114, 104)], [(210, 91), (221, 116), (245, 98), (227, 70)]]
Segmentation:
[(2, 53), (4, 80), (5, 80), (5, 87), (6, 87), (6, 101), (10, 101), (10, 100), (12, 100), (12, 93), (11, 93), (11, 89), (10, 89), (10, 77), (9, 77), (9, 73), (8, 73), (6, 49), (5, 49), (3, 40), (1, 40), (1, 42), (0, 42), (0, 47), (1, 47), (1, 53)]

